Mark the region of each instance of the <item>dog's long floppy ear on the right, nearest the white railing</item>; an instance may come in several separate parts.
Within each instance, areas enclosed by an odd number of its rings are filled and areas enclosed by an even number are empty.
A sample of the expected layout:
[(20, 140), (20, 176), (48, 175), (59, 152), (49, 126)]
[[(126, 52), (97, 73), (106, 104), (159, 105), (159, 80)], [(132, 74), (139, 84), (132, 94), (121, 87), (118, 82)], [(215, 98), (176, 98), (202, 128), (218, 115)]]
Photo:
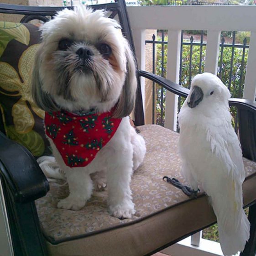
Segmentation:
[(116, 104), (114, 112), (115, 118), (123, 118), (130, 115), (135, 104), (137, 78), (135, 57), (131, 51), (129, 43), (125, 40), (125, 57), (126, 57), (126, 78), (123, 85), (120, 98)]

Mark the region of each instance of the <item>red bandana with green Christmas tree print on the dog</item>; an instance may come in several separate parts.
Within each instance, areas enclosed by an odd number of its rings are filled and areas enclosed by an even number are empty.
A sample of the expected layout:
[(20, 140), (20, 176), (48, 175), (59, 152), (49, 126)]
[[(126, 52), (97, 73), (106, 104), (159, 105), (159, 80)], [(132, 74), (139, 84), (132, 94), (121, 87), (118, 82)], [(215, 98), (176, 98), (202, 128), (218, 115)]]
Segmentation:
[(69, 167), (84, 167), (114, 136), (122, 119), (106, 113), (46, 112), (45, 130)]

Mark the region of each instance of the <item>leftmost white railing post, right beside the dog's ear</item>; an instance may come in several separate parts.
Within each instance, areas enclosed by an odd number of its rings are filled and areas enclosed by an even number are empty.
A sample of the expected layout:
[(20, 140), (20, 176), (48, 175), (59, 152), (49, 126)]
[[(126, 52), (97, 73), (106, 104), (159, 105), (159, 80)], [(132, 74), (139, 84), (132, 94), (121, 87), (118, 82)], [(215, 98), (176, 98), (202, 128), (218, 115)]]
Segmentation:
[[(132, 31), (133, 41), (135, 45), (136, 58), (138, 68), (145, 70), (145, 52), (146, 52), (146, 30), (145, 29), (134, 29)], [(141, 94), (143, 101), (143, 110), (145, 110), (145, 78), (141, 77)]]

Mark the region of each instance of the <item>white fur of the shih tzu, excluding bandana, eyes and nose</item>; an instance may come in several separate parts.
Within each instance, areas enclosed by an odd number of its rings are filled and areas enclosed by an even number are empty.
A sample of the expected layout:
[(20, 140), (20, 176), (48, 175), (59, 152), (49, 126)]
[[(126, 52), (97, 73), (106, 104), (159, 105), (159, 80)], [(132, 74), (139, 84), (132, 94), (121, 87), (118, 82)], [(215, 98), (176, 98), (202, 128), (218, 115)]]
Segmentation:
[[(106, 172), (110, 214), (118, 218), (131, 218), (135, 213), (130, 188), (131, 175), (133, 169), (139, 167), (146, 153), (144, 139), (131, 127), (127, 116), (134, 105), (136, 68), (129, 44), (120, 33), (120, 26), (104, 15), (102, 10), (93, 12), (88, 8), (79, 7), (75, 10), (60, 11), (52, 21), (42, 26), (42, 45), (37, 52), (32, 94), (44, 110), (58, 106), (72, 112), (87, 111), (91, 108), (106, 112), (116, 105), (115, 114), (123, 119), (115, 135), (86, 167), (66, 166), (50, 138), (57, 164), (54, 158), (49, 157), (42, 157), (38, 161), (47, 177), (63, 179), (65, 176), (68, 182), (70, 194), (59, 201), (58, 208), (83, 208), (94, 187), (101, 189), (106, 186)], [(67, 54), (58, 48), (58, 42), (63, 38), (71, 38), (75, 42), (68, 49), (70, 58), (65, 59), (66, 67), (63, 66), (63, 70), (68, 67), (65, 72), (71, 72), (69, 84), (65, 86), (70, 89), (73, 100), (60, 94), (58, 87), (62, 85), (58, 83), (62, 81), (62, 70), (58, 70), (56, 66), (62, 67), (61, 54)], [(97, 44), (101, 42), (110, 45), (114, 62), (101, 56), (97, 49)], [(76, 51), (79, 47), (89, 47), (93, 52), (91, 73), (79, 73), (73, 68), (75, 64), (72, 60), (77, 60)], [(96, 178), (96, 184), (93, 184), (92, 176)]]

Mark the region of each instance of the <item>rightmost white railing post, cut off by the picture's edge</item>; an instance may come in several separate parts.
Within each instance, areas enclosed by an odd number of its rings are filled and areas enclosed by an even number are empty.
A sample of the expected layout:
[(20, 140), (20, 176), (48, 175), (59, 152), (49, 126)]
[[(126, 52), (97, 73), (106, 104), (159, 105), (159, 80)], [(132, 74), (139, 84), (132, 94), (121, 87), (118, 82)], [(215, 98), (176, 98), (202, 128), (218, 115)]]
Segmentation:
[(250, 45), (247, 59), (246, 79), (243, 98), (255, 100), (256, 95), (256, 32), (251, 32)]

